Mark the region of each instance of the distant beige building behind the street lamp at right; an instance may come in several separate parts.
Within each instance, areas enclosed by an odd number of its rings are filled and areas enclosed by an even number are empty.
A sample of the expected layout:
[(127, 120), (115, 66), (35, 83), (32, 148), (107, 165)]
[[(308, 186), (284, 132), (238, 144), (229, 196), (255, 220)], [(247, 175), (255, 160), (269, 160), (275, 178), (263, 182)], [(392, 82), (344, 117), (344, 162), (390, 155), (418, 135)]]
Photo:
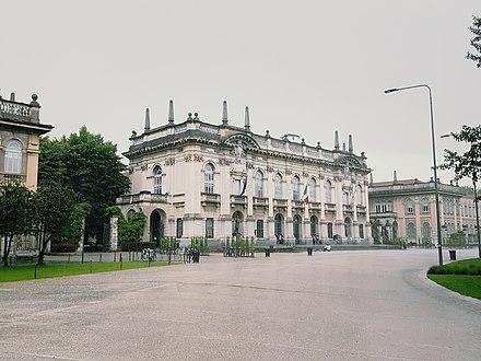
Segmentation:
[[(369, 213), (373, 234), (380, 241), (402, 238), (415, 244), (436, 244), (436, 201), (434, 180), (400, 179), (369, 184)], [(473, 193), (453, 184), (438, 184), (442, 237), (462, 231), (476, 244)], [(376, 228), (376, 230), (374, 230)]]

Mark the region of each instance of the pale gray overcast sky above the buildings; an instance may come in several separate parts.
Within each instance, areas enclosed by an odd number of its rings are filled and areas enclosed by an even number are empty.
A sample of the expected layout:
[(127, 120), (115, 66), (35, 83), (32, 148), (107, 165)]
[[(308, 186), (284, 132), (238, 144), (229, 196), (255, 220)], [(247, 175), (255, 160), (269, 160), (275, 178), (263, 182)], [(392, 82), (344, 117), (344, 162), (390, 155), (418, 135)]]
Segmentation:
[[(188, 112), (220, 124), (250, 107), (251, 129), (333, 147), (353, 135), (376, 180), (429, 179), (424, 90), (437, 136), (480, 124), (481, 70), (465, 59), (479, 0), (8, 1), (0, 0), (0, 89), (36, 92), (51, 136), (82, 125), (127, 150), (132, 129)], [(437, 139), (438, 160), (451, 139)], [(453, 175), (442, 174), (447, 180)]]

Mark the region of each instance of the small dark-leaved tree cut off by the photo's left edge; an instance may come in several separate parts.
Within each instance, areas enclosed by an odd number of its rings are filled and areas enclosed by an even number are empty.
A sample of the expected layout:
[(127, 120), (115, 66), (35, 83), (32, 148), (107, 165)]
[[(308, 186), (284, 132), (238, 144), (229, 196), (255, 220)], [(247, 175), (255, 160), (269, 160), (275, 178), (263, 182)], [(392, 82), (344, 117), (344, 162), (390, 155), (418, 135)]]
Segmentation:
[(2, 261), (9, 266), (14, 236), (25, 235), (33, 225), (33, 191), (20, 183), (0, 184), (0, 235), (3, 238)]

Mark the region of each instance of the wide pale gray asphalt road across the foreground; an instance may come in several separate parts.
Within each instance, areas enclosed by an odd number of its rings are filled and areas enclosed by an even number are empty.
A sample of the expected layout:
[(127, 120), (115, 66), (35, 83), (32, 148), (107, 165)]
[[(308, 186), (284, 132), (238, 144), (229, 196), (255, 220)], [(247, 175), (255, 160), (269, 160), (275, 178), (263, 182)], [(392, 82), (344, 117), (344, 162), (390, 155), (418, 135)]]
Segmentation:
[(435, 249), (210, 256), (4, 283), (0, 358), (480, 360), (481, 302), (426, 280), (436, 260)]

